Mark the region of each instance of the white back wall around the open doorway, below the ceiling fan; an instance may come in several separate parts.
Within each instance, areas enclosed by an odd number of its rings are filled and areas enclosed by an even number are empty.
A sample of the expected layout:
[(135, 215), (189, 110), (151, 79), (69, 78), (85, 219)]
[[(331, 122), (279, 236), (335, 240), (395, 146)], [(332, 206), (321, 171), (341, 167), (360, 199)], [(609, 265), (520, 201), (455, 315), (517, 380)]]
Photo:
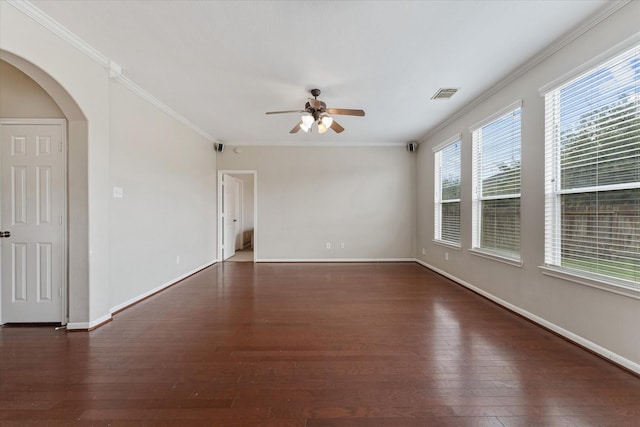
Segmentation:
[(218, 168), (257, 171), (258, 260), (406, 259), (413, 156), (404, 146), (242, 147), (219, 153)]

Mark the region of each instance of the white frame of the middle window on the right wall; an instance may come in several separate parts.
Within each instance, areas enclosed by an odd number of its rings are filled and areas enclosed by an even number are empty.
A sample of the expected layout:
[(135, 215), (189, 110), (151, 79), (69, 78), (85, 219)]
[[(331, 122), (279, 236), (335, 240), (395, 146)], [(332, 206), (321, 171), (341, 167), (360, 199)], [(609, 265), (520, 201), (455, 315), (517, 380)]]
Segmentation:
[[(479, 255), (484, 258), (493, 259), (509, 265), (521, 267), (522, 263), (522, 245), (519, 245), (518, 252), (507, 252), (497, 249), (487, 248), (481, 246), (482, 235), (482, 202), (490, 200), (507, 200), (518, 199), (520, 205), (522, 205), (522, 169), (520, 170), (520, 191), (518, 193), (499, 195), (499, 196), (482, 196), (482, 168), (478, 164), (478, 159), (482, 157), (481, 144), (478, 138), (479, 133), (482, 132), (482, 128), (496, 122), (509, 114), (520, 110), (520, 150), (522, 150), (522, 100), (517, 100), (494, 114), (486, 117), (485, 119), (473, 124), (469, 127), (469, 132), (472, 135), (472, 244), (469, 251), (474, 255)], [(522, 152), (522, 151), (521, 151)], [(522, 167), (522, 159), (520, 159), (520, 165)], [(521, 239), (522, 224), (520, 224), (517, 233)]]

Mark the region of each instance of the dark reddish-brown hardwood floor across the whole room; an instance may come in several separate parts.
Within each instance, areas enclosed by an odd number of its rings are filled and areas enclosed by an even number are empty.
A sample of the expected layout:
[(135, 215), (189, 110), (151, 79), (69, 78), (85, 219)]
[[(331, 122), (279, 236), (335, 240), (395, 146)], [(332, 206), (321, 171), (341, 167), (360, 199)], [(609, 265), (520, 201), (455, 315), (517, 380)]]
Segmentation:
[(207, 268), (0, 328), (0, 426), (638, 426), (640, 378), (413, 263)]

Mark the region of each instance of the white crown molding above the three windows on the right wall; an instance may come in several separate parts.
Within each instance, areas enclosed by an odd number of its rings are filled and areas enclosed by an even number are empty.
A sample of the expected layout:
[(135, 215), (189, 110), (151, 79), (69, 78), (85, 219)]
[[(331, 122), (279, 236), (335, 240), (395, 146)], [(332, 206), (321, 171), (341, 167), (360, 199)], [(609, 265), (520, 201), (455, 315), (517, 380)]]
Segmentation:
[(489, 99), (490, 97), (498, 93), (500, 90), (502, 90), (509, 84), (513, 83), (518, 78), (522, 77), (524, 74), (532, 70), (535, 66), (537, 66), (544, 60), (548, 59), (549, 57), (554, 55), (556, 52), (558, 52), (568, 44), (578, 39), (587, 31), (591, 30), (592, 28), (600, 24), (602, 21), (606, 20), (611, 15), (613, 15), (614, 13), (622, 9), (624, 6), (631, 3), (632, 1), (633, 0), (618, 0), (606, 6), (603, 10), (593, 15), (591, 19), (588, 19), (587, 21), (575, 27), (573, 30), (569, 31), (564, 36), (557, 39), (555, 42), (553, 42), (552, 44), (544, 48), (541, 52), (539, 52), (533, 58), (529, 59), (523, 65), (516, 68), (513, 72), (509, 73), (509, 75), (507, 75), (504, 79), (501, 79), (500, 82), (498, 82), (497, 84), (489, 88), (487, 91), (482, 93), (480, 96), (475, 98), (473, 101), (471, 101), (470, 103), (462, 107), (460, 110), (458, 110), (451, 116), (449, 116), (446, 120), (436, 125), (435, 127), (431, 128), (429, 131), (427, 131), (427, 133), (425, 133), (419, 139), (419, 142), (425, 142), (426, 140), (434, 136), (436, 133), (440, 132), (450, 124), (454, 123), (456, 120), (458, 120), (459, 118), (463, 117), (465, 114), (472, 111), (478, 105), (480, 105), (481, 103), (483, 103), (484, 101), (486, 101), (487, 99)]

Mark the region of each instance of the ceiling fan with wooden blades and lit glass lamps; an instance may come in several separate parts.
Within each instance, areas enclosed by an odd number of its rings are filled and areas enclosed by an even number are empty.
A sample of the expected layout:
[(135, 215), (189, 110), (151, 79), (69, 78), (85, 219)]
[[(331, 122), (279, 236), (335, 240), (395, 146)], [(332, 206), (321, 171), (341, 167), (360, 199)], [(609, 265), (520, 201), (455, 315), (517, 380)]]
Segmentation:
[(330, 114), (343, 115), (343, 116), (364, 116), (363, 110), (353, 110), (348, 108), (327, 108), (327, 104), (318, 99), (320, 96), (320, 89), (311, 89), (311, 95), (313, 98), (309, 98), (306, 104), (304, 104), (304, 110), (288, 110), (288, 111), (269, 111), (267, 114), (287, 114), (287, 113), (302, 113), (303, 116), (297, 125), (289, 131), (289, 133), (296, 133), (300, 129), (305, 132), (309, 132), (314, 123), (318, 127), (318, 133), (325, 133), (329, 128), (334, 132), (340, 133), (344, 130), (342, 126), (336, 122)]

